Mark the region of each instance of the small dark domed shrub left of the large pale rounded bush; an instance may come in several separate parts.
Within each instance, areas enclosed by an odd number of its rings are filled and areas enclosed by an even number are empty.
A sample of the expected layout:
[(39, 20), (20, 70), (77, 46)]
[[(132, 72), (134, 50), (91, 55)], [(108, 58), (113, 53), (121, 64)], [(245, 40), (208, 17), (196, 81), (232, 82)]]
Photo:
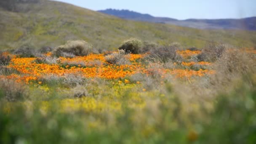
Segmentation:
[(22, 45), (20, 48), (15, 50), (14, 54), (16, 54), (19, 57), (32, 58), (32, 57), (35, 57), (36, 52), (33, 46), (26, 44), (26, 45)]

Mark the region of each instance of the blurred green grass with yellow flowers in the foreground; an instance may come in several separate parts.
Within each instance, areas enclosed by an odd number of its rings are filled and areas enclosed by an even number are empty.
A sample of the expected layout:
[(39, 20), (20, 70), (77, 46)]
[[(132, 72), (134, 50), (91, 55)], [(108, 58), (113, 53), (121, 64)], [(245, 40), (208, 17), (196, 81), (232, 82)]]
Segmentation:
[(232, 91), (204, 104), (184, 103), (169, 84), (165, 96), (159, 91), (134, 94), (122, 87), (121, 97), (1, 101), (0, 142), (254, 144), (255, 86), (256, 76), (246, 76)]

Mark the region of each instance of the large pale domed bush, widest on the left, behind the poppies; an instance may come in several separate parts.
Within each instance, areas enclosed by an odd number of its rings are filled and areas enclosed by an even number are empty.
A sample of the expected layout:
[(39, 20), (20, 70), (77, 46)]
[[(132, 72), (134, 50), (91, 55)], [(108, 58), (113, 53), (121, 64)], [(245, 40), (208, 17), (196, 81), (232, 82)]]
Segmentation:
[(54, 56), (74, 57), (87, 56), (93, 52), (93, 46), (84, 40), (69, 40), (64, 45), (58, 46), (54, 51)]

